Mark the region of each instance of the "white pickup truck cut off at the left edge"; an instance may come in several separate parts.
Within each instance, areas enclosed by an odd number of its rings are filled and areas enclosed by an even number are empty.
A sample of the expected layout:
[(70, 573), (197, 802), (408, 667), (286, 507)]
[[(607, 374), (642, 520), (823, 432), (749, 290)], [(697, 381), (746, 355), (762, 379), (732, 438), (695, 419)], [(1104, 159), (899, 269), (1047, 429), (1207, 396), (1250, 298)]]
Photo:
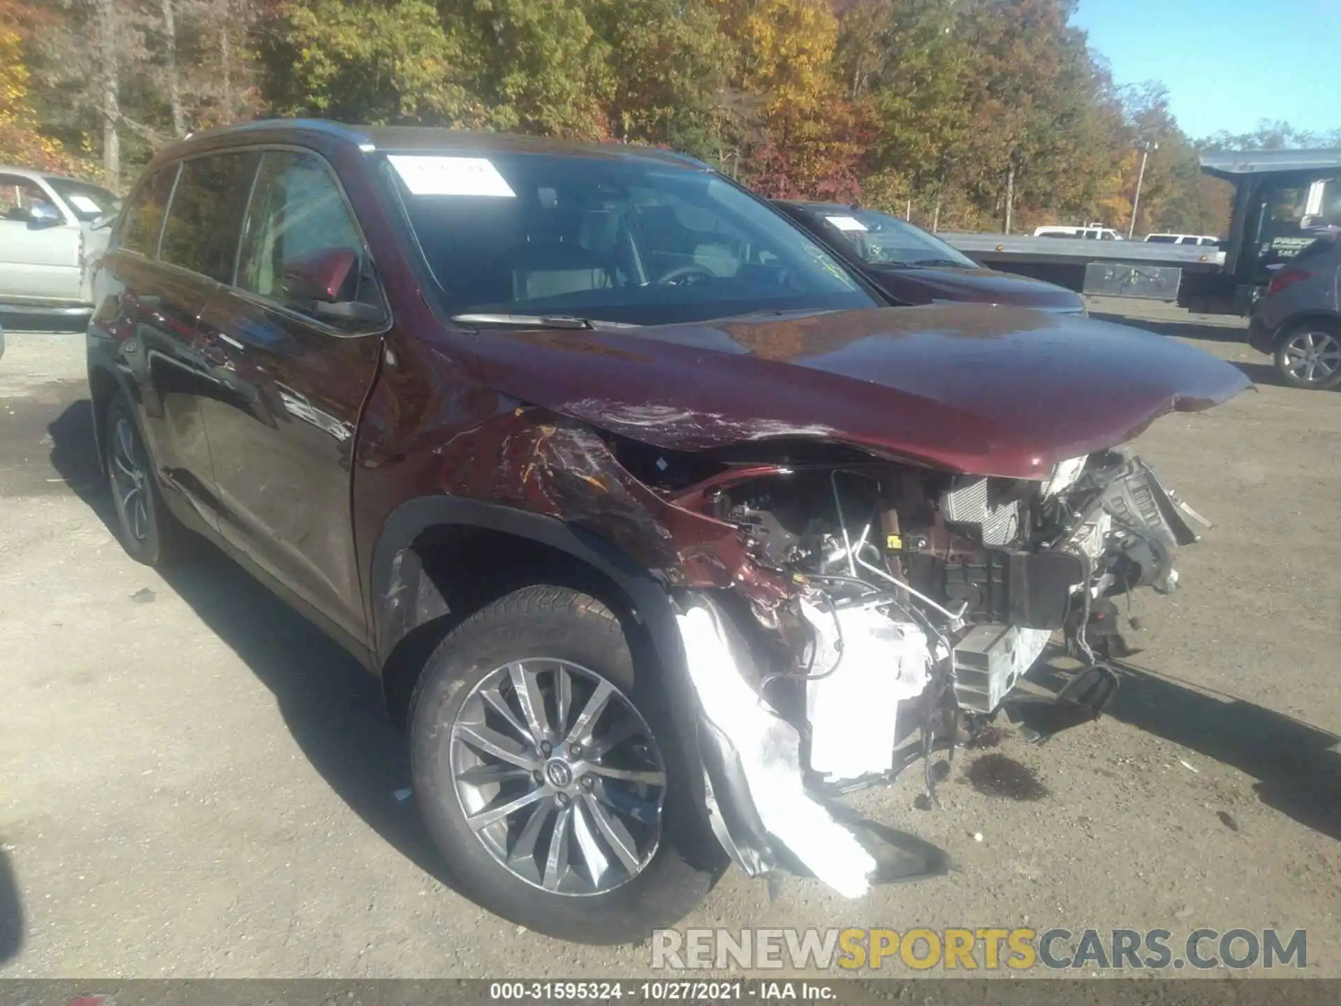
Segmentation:
[(0, 166), (0, 317), (87, 315), (121, 200), (78, 178)]

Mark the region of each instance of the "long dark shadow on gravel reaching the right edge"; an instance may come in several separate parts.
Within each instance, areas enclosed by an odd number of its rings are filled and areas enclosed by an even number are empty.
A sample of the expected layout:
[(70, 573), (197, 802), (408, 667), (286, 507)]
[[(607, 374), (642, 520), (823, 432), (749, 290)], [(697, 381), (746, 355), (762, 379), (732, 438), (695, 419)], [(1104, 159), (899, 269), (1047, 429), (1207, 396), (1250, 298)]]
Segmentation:
[[(1110, 664), (1121, 685), (1105, 715), (1251, 775), (1269, 807), (1341, 841), (1341, 751), (1332, 750), (1341, 738), (1231, 695), (1125, 661)], [(1067, 680), (1055, 668), (1041, 669), (1045, 687)]]

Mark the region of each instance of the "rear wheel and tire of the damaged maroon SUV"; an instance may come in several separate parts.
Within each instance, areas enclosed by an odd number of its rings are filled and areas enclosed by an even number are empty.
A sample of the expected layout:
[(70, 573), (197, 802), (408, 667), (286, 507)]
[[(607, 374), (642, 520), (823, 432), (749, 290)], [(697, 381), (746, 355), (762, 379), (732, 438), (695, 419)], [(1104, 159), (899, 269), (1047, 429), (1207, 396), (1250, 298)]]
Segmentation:
[(181, 554), (190, 533), (168, 510), (149, 449), (122, 394), (107, 404), (102, 445), (122, 547), (135, 562), (165, 565)]

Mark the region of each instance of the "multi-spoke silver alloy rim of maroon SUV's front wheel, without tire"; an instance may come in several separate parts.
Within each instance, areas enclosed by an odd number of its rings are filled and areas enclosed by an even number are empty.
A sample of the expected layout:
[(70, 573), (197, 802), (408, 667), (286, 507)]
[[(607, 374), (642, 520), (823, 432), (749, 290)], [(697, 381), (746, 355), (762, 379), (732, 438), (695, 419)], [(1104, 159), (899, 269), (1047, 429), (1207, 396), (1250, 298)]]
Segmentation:
[(488, 673), (452, 723), (451, 771), (469, 829), (532, 887), (599, 895), (656, 856), (661, 752), (629, 699), (585, 667), (527, 659)]

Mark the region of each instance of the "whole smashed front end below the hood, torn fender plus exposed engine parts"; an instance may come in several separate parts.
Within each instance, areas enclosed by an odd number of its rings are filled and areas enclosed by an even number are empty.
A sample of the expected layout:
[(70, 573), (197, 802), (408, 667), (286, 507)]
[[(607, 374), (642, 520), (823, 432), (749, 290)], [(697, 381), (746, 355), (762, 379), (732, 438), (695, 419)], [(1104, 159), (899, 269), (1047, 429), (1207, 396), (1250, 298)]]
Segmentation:
[[(1200, 520), (1120, 449), (964, 475), (802, 436), (675, 451), (511, 402), (434, 453), (447, 494), (586, 528), (660, 583), (666, 695), (713, 833), (748, 876), (846, 896), (948, 858), (833, 798), (921, 762), (935, 802), (932, 754), (1000, 714), (1035, 742), (1096, 719), (1125, 652), (1113, 598), (1172, 590)], [(1057, 632), (1088, 665), (1021, 695)]]

